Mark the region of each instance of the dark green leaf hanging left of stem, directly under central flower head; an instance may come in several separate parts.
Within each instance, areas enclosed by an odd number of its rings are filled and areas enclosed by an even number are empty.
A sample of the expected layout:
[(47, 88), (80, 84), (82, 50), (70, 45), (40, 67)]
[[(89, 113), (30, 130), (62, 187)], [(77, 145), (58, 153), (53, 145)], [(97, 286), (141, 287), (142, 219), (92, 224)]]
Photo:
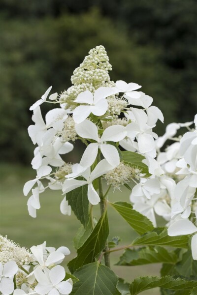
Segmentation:
[(71, 206), (77, 219), (86, 228), (89, 220), (88, 185), (75, 188), (71, 192), (67, 193), (66, 200)]

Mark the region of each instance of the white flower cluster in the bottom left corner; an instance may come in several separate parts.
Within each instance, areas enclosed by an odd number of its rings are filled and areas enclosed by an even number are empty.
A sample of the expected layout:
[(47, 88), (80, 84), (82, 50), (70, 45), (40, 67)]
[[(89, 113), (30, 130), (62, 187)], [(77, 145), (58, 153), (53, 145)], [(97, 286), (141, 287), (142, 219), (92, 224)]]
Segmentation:
[(0, 236), (0, 241), (0, 251), (3, 252), (7, 248), (5, 255), (8, 254), (8, 249), (12, 253), (8, 256), (7, 262), (0, 261), (0, 293), (2, 295), (68, 295), (71, 293), (72, 280), (66, 280), (65, 269), (59, 265), (65, 256), (70, 254), (67, 247), (56, 250), (54, 247), (46, 247), (44, 242), (33, 246), (30, 252), (20, 248), (6, 237)]

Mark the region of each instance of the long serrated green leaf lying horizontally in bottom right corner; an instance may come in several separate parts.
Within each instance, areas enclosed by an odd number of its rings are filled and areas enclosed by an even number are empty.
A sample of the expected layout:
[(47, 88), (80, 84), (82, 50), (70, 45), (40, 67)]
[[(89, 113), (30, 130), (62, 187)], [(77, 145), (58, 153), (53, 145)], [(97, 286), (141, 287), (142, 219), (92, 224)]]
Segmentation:
[(188, 281), (185, 279), (177, 278), (174, 279), (172, 276), (157, 277), (157, 276), (146, 276), (134, 279), (130, 286), (131, 295), (139, 294), (148, 289), (162, 287), (170, 290), (192, 290), (197, 286), (197, 281)]

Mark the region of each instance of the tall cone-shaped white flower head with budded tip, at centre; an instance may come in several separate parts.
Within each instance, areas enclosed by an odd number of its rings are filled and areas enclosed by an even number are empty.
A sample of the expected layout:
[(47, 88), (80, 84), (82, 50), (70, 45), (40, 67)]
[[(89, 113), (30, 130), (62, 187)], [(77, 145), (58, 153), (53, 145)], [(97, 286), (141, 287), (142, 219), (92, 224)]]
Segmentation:
[[(96, 47), (74, 71), (71, 79), (77, 86), (84, 83), (89, 85), (92, 79), (94, 91), (80, 90), (80, 93), (70, 100), (75, 105), (73, 110), (69, 104), (64, 105), (63, 109), (61, 101), (57, 100), (57, 93), (51, 94), (48, 98), (50, 102), (60, 103), (60, 107), (49, 111), (45, 121), (40, 105), (47, 101), (51, 87), (30, 108), (33, 110), (34, 125), (29, 126), (28, 132), (33, 144), (37, 145), (32, 160), (37, 176), (26, 182), (24, 194), (27, 196), (32, 190), (27, 204), (32, 217), (36, 217), (36, 210), (40, 208), (40, 193), (48, 187), (62, 190), (63, 194), (66, 194), (87, 184), (90, 203), (98, 204), (100, 198), (93, 181), (119, 166), (120, 157), (116, 148), (118, 143), (125, 149), (143, 154), (147, 162), (154, 160), (154, 138), (157, 138), (157, 134), (152, 128), (158, 118), (163, 121), (163, 115), (157, 107), (151, 106), (153, 99), (150, 96), (137, 91), (141, 88), (138, 84), (117, 81), (110, 87), (109, 70), (111, 65), (104, 48)], [(125, 114), (125, 117), (118, 118), (120, 113)], [(76, 139), (85, 143), (87, 148), (79, 163), (67, 164), (61, 155), (73, 149), (69, 141), (74, 142)], [(103, 159), (100, 160), (101, 155)], [(93, 163), (94, 169), (91, 168)], [(128, 173), (131, 174), (131, 171)], [(139, 177), (137, 172), (134, 175)], [(83, 180), (78, 177), (83, 177)], [(117, 182), (115, 186), (119, 187), (127, 183), (129, 178), (129, 175), (122, 175), (121, 178), (119, 172), (119, 184), (118, 180), (114, 180), (113, 184)], [(44, 179), (45, 183), (48, 182), (45, 186)], [(109, 179), (107, 181), (109, 183)], [(60, 210), (63, 214), (71, 213), (66, 195)]]

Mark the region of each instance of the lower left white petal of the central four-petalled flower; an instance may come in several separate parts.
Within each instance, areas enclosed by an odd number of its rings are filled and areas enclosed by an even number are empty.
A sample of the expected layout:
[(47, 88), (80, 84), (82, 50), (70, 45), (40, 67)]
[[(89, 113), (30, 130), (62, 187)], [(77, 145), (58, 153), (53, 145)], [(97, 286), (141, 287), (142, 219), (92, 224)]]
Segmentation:
[(90, 144), (84, 151), (80, 165), (82, 167), (90, 167), (96, 160), (98, 154), (99, 144)]

